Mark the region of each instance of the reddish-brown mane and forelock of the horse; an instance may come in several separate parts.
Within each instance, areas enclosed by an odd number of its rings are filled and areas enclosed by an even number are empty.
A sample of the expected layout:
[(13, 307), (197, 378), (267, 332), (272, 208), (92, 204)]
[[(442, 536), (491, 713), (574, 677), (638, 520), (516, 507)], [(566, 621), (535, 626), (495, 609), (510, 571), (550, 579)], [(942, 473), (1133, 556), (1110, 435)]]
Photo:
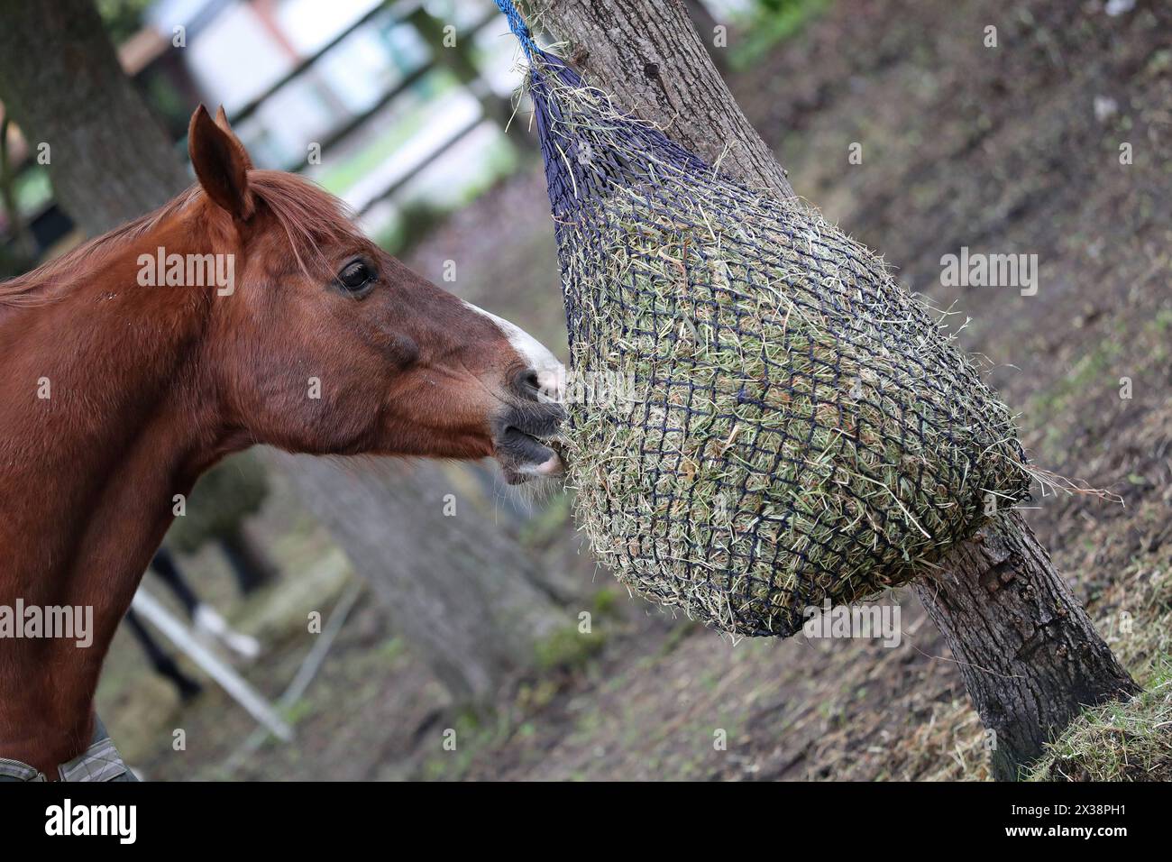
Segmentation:
[[(341, 199), (304, 177), (287, 171), (250, 170), (248, 188), (280, 225), (298, 267), (306, 274), (309, 274), (312, 264), (321, 263), (322, 245), (331, 242), (369, 242), (354, 226), (353, 212)], [(130, 243), (150, 235), (168, 219), (195, 209), (203, 201), (207, 201), (207, 196), (196, 183), (157, 210), (94, 237), (29, 272), (0, 281), (0, 308), (49, 301), (48, 289), (83, 280), (86, 274), (124, 251)], [(207, 206), (219, 212), (223, 219), (229, 218), (210, 201)]]

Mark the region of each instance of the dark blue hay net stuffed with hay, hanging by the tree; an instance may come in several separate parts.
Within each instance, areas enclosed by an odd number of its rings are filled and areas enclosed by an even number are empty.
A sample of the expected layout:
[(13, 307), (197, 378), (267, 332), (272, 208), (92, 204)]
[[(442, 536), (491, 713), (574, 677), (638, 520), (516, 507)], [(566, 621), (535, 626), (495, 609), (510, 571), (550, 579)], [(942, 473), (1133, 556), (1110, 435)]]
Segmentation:
[(789, 636), (1028, 496), (1008, 409), (881, 260), (625, 115), (497, 1), (556, 225), (568, 483), (622, 583)]

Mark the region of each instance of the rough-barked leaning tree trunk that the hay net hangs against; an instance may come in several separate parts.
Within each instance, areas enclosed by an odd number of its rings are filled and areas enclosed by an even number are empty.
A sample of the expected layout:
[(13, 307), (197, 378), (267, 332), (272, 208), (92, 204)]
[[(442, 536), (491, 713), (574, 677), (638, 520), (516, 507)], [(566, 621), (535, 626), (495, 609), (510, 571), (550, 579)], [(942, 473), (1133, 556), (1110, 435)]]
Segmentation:
[[(531, 0), (530, 22), (622, 107), (752, 186), (793, 190), (744, 118), (681, 0)], [(536, 16), (532, 13), (537, 13)], [(1013, 779), (1084, 705), (1138, 691), (1017, 513), (952, 549), (915, 591), (960, 663), (997, 778)]]

